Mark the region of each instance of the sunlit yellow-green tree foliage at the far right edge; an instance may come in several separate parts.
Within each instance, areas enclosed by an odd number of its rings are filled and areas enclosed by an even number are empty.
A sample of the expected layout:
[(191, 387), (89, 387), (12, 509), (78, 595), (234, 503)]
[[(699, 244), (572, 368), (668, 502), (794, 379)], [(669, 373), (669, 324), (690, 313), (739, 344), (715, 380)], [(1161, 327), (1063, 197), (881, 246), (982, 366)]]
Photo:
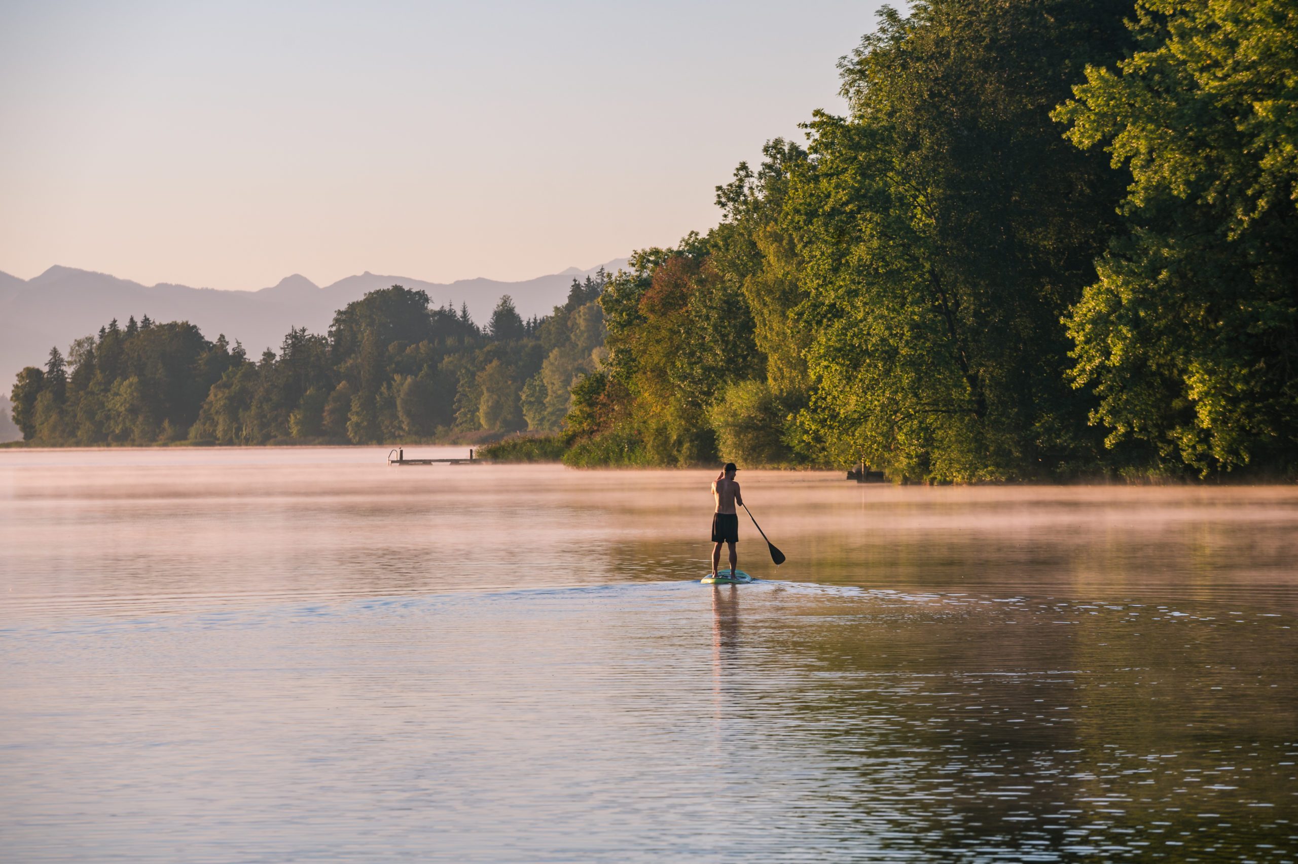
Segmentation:
[(1055, 117), (1133, 178), (1124, 230), (1068, 317), (1108, 446), (1201, 474), (1298, 443), (1298, 8), (1141, 0), (1140, 49)]

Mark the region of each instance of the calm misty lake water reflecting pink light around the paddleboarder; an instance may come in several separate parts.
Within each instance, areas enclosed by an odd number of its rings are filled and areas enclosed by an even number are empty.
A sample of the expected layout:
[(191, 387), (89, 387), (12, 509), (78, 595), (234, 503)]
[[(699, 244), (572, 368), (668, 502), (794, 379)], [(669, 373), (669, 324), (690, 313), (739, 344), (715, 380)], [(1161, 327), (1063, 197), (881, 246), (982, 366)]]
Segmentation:
[(1294, 487), (386, 452), (0, 451), (0, 859), (1298, 860)]

